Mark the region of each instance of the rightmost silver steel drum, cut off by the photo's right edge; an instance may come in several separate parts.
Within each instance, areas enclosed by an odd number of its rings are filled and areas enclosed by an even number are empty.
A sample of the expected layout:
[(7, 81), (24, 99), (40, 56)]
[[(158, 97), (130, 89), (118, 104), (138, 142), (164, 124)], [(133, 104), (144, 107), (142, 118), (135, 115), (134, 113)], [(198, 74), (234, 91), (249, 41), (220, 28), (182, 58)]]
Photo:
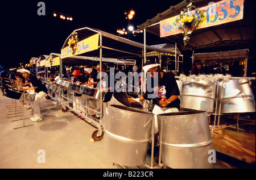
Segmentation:
[(218, 87), (220, 113), (255, 112), (255, 99), (248, 79), (230, 79), (219, 82)]

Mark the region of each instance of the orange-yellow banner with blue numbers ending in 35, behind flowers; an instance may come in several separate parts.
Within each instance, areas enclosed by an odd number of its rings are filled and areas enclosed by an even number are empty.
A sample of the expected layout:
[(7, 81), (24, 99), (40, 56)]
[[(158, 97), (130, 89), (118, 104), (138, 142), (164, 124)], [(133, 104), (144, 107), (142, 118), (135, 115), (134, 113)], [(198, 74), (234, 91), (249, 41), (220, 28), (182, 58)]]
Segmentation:
[[(201, 7), (200, 10), (205, 10), (204, 19), (197, 29), (243, 19), (243, 2), (244, 0), (224, 0)], [(181, 33), (175, 22), (177, 16), (160, 21), (160, 37)]]

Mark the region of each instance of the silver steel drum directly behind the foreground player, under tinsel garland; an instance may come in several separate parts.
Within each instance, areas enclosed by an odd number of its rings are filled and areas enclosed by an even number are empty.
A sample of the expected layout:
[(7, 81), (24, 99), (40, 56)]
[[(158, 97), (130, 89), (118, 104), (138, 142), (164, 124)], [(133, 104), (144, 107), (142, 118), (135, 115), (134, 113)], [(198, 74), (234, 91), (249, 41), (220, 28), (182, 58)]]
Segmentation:
[(183, 83), (180, 94), (180, 107), (213, 112), (215, 89), (213, 82)]

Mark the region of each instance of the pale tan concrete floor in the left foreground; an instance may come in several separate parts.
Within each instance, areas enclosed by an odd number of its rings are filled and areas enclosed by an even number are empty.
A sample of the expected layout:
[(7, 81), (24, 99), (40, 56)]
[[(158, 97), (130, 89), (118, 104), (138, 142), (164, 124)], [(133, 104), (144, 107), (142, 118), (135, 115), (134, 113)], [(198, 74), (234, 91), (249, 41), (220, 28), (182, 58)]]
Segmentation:
[[(43, 98), (44, 119), (31, 122), (32, 112), (24, 108), (23, 123), (19, 111), (14, 114), (12, 102), (13, 99), (0, 95), (0, 169), (121, 168), (102, 155), (103, 141), (90, 141), (96, 128), (71, 111), (62, 112), (54, 101)], [(151, 165), (150, 155), (145, 163)], [(129, 168), (146, 169), (145, 166)], [(214, 169), (237, 169), (237, 166), (217, 160)]]

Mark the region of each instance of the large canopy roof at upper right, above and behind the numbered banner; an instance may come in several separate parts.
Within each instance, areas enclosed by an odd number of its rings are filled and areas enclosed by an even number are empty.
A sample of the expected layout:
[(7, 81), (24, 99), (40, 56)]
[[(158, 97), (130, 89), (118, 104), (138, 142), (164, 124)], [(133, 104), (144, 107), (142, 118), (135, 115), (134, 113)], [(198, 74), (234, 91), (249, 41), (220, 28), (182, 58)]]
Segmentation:
[[(146, 28), (147, 32), (160, 36), (160, 20), (179, 15), (180, 11), (183, 11), (184, 7), (191, 2), (196, 7), (204, 7), (207, 6), (209, 2), (212, 2), (212, 0), (184, 0), (175, 6), (171, 6), (170, 9), (159, 13), (154, 18), (148, 19), (137, 27), (140, 29)], [(241, 20), (193, 31), (191, 39), (185, 47), (183, 43), (183, 34), (171, 35), (163, 38), (177, 43), (177, 47), (179, 47), (181, 51), (227, 46), (238, 49), (243, 46), (248, 47), (248, 45), (254, 46), (255, 1), (245, 0), (243, 19)], [(221, 49), (218, 51), (221, 51)]]

